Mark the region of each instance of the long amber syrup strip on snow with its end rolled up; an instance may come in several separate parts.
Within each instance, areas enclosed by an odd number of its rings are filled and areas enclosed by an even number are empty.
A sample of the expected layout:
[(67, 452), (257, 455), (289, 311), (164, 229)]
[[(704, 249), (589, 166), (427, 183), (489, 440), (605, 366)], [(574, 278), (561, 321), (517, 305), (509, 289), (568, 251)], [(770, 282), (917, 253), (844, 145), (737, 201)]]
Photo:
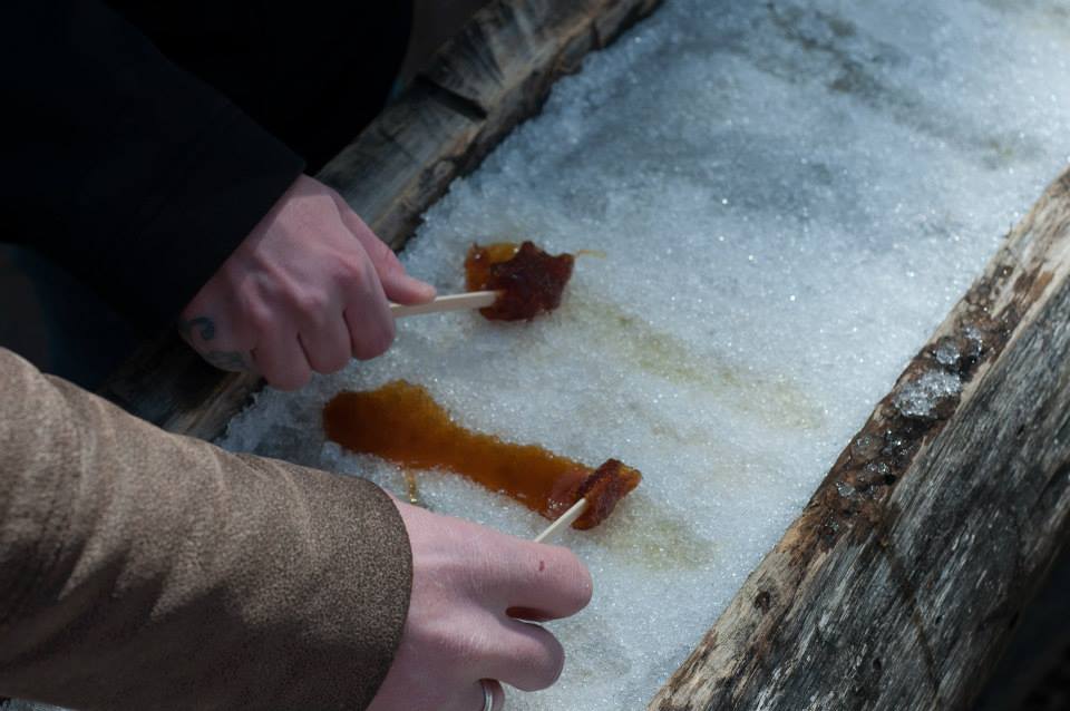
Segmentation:
[(402, 467), (442, 468), (502, 491), (546, 518), (587, 499), (574, 528), (592, 528), (642, 476), (616, 459), (597, 469), (535, 445), (515, 445), (457, 425), (419, 386), (395, 380), (366, 392), (342, 392), (323, 409), (332, 441)]

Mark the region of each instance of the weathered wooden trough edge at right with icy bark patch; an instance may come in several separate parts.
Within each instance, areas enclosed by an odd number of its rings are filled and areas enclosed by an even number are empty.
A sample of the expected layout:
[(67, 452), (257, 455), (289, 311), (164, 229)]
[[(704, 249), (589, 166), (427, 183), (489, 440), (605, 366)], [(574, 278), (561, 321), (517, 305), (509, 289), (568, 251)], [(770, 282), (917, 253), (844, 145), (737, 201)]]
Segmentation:
[(1070, 171), (649, 709), (969, 708), (1068, 532)]

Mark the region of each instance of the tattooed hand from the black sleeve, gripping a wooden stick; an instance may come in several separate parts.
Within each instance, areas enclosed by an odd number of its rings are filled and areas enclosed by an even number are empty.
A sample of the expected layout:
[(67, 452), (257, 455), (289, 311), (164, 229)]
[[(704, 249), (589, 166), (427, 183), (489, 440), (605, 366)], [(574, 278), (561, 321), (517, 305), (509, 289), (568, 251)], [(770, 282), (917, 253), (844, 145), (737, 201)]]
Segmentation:
[(213, 366), (293, 390), (386, 351), (388, 300), (434, 298), (338, 193), (302, 175), (186, 305), (181, 331)]

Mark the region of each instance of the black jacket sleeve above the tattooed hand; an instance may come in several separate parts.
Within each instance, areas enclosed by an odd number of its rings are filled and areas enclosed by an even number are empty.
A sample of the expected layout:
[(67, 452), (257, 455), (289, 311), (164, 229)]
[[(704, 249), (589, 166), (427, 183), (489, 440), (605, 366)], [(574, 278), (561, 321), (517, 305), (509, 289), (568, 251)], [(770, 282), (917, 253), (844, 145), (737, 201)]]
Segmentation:
[(226, 98), (93, 0), (0, 20), (3, 236), (143, 331), (174, 319), (303, 168)]

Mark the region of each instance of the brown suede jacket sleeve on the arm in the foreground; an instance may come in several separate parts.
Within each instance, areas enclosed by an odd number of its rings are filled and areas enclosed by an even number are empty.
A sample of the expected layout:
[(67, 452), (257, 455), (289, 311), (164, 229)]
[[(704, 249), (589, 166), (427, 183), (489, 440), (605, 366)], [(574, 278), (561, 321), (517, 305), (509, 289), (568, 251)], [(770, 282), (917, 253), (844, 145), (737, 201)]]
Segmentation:
[(164, 432), (0, 349), (0, 695), (363, 709), (411, 558), (379, 488)]

